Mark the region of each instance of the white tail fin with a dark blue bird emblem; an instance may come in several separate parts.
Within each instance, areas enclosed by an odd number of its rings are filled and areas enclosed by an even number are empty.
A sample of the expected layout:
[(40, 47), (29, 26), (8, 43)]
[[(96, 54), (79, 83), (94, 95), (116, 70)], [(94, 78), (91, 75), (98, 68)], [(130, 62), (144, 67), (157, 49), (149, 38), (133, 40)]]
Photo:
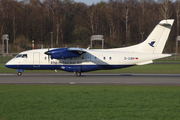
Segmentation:
[(138, 45), (120, 48), (119, 50), (141, 53), (162, 53), (173, 22), (174, 19), (160, 21), (144, 42)]

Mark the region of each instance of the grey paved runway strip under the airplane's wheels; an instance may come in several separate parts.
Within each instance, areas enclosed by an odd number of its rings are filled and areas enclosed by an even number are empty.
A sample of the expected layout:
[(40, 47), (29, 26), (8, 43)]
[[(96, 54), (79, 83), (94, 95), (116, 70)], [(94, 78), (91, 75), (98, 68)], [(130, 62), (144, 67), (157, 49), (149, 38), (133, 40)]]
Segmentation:
[(73, 73), (0, 74), (0, 84), (53, 84), (53, 85), (178, 85), (180, 74), (92, 74)]

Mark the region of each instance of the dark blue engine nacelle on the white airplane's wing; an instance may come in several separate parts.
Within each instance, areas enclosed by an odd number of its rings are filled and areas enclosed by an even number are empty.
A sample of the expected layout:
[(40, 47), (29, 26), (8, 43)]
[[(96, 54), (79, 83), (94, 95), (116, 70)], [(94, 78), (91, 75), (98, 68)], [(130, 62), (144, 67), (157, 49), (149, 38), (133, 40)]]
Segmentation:
[(70, 52), (67, 48), (57, 48), (54, 50), (50, 50), (45, 52), (46, 55), (51, 55), (51, 59), (66, 59), (66, 58), (73, 58), (79, 57), (79, 54)]

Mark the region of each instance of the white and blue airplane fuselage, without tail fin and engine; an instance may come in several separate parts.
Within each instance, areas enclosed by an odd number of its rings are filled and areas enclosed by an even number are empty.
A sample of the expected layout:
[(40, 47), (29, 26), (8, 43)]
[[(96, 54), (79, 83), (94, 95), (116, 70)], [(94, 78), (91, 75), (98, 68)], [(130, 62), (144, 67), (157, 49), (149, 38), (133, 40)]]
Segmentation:
[[(169, 54), (147, 54), (109, 50), (87, 50), (79, 57), (67, 59), (49, 59), (44, 54), (48, 49), (37, 49), (21, 52), (18, 56), (10, 60), (6, 66), (14, 69), (60, 69), (66, 70), (69, 66), (115, 66), (113, 68), (122, 68), (126, 65), (144, 65), (152, 63), (152, 60), (168, 57)], [(23, 57), (26, 55), (26, 57)], [(49, 60), (48, 60), (49, 59)], [(24, 66), (24, 67), (20, 67)], [(28, 66), (28, 67), (27, 67)], [(46, 66), (45, 68), (43, 66)], [(54, 66), (54, 67), (52, 67)], [(111, 67), (107, 67), (107, 69)], [(95, 68), (98, 69), (98, 68)], [(99, 68), (101, 69), (101, 68)], [(68, 70), (69, 71), (69, 70)], [(73, 71), (73, 70), (72, 70)], [(86, 70), (85, 70), (86, 71)]]

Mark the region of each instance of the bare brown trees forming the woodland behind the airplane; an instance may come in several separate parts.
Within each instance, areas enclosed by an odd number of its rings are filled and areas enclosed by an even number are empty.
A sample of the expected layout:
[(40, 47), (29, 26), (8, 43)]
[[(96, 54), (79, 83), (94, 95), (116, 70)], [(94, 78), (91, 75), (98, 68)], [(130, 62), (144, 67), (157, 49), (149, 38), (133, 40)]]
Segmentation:
[(162, 19), (175, 19), (165, 52), (175, 52), (179, 0), (108, 0), (90, 6), (73, 0), (0, 0), (0, 35), (26, 47), (50, 44), (88, 47), (91, 35), (104, 35), (105, 47), (137, 44)]

